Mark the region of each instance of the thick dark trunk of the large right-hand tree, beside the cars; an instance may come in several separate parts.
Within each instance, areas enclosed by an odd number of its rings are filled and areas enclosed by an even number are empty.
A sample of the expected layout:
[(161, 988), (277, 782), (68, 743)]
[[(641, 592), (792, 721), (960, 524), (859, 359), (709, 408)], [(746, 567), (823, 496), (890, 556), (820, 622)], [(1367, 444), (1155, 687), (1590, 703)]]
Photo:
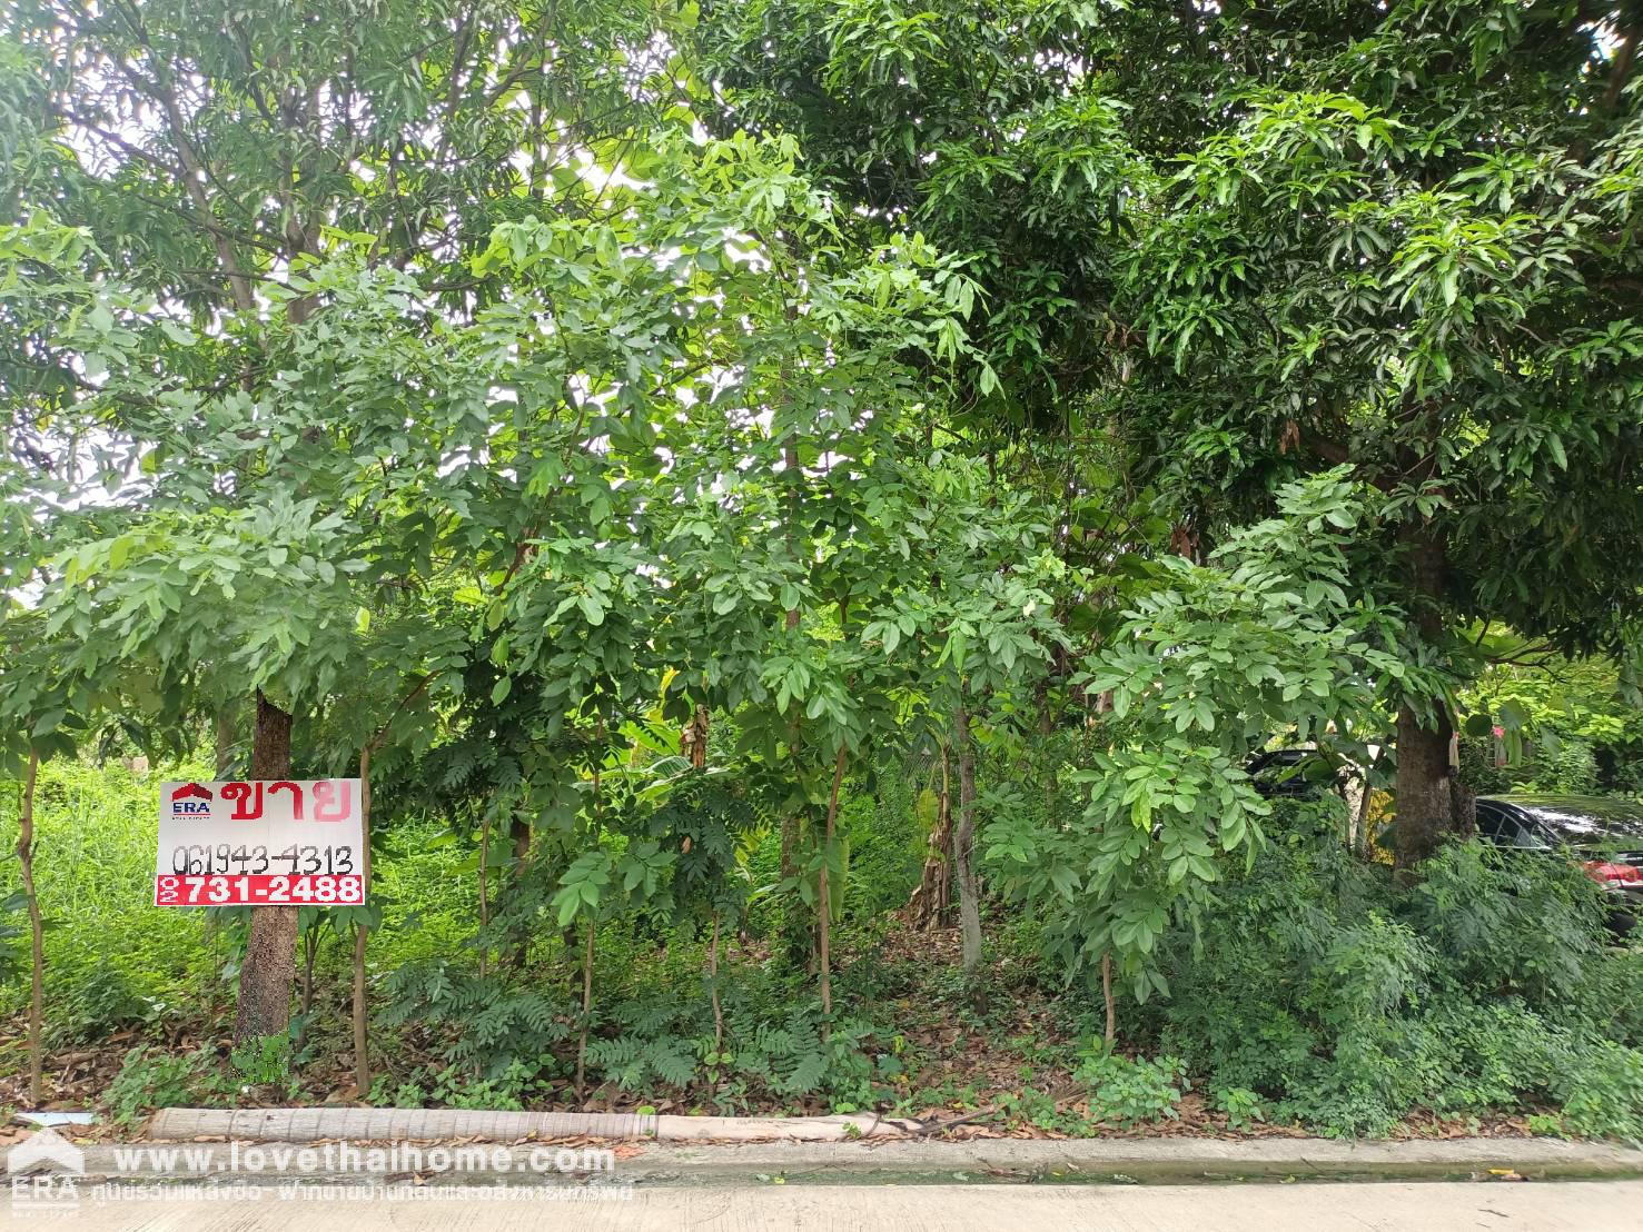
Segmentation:
[[(1449, 570), (1444, 537), (1431, 522), (1411, 522), (1401, 537), (1416, 629), (1428, 647), (1436, 647), (1444, 634), (1443, 596)], [(1466, 810), (1459, 807), (1464, 800), (1457, 800), (1449, 762), (1454, 726), (1447, 706), (1434, 705), (1429, 726), (1410, 705), (1398, 711), (1397, 867), (1405, 876), (1431, 857), (1446, 838), (1467, 830)]]

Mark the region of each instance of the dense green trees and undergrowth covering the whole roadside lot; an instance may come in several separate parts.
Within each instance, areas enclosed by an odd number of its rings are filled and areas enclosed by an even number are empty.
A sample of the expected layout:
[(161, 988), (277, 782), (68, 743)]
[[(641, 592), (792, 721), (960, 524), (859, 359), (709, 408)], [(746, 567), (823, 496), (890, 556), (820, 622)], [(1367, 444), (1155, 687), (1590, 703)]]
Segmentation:
[[(1469, 836), (1643, 790), (1640, 30), (10, 5), (0, 1073), (1636, 1137)], [(370, 900), (140, 907), (163, 767), (366, 777)]]

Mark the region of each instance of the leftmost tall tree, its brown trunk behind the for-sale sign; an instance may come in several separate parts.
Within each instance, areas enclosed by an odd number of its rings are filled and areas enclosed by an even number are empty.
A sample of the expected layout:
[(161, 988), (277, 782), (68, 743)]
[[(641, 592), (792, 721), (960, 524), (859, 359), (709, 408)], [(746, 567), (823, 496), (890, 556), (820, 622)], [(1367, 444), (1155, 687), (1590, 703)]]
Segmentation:
[[(621, 131), (634, 105), (626, 77), (608, 69), (660, 67), (660, 53), (641, 49), (649, 21), (621, 5), (560, 16), (504, 3), (215, 13), (28, 3), (8, 8), (5, 34), (21, 49), (5, 64), (7, 84), (36, 138), (12, 163), (16, 209), (84, 228), (99, 255), (89, 268), (125, 287), (140, 314), (97, 301), (87, 320), (104, 347), (58, 338), (56, 353), (12, 365), (43, 370), (51, 399), (77, 414), (49, 429), (79, 442), (58, 473), (82, 473), (87, 442), (105, 442), (95, 481), (125, 498), (123, 517), (85, 519), (95, 542), (56, 583), (102, 573), (112, 585), (100, 598), (135, 606), (94, 613), (87, 590), (59, 613), (76, 609), (77, 634), (118, 619), (118, 644), (159, 660), (168, 687), (209, 667), (225, 688), (233, 660), (248, 660), (240, 687), (256, 693), (253, 772), (283, 775), (292, 711), (317, 710), (340, 680), (345, 632), (371, 606), (363, 591), (450, 559), (439, 511), (453, 506), (396, 503), (406, 478), (437, 475), (463, 448), (453, 439), (463, 429), (478, 430), (468, 447), (485, 442), (478, 416), (422, 414), (432, 401), (460, 411), (449, 388), (399, 379), (358, 398), (358, 353), (343, 356), (355, 365), (342, 388), (301, 388), (324, 363), (289, 383), (281, 365), (304, 347), (338, 356), (324, 325), (296, 337), (338, 291), (311, 281), (314, 263), (368, 253), (357, 286), (378, 292), (380, 315), (409, 312), (412, 299), (417, 312), (476, 309), (483, 284), (465, 266), (475, 235), (547, 199), (596, 209), (600, 186), (578, 159)], [(623, 54), (628, 39), (637, 39), (634, 59)], [(610, 126), (587, 123), (595, 115)], [(465, 407), (480, 401), (470, 388)], [(430, 430), (412, 445), (396, 430), (407, 424)], [(460, 504), (468, 478), (440, 496)], [(299, 488), (307, 499), (292, 498)], [(388, 532), (370, 521), (384, 506), (399, 514)], [(205, 557), (192, 552), (227, 552), (207, 593), (220, 606), (194, 601)], [(348, 585), (366, 572), (366, 586)], [(237, 580), (263, 593), (242, 593)], [(251, 600), (273, 619), (248, 623)], [(200, 619), (154, 627), (184, 606)], [(143, 608), (148, 626), (133, 619)], [(219, 616), (223, 626), (207, 624)], [(110, 649), (89, 649), (76, 669), (105, 667)], [(214, 701), (227, 705), (223, 693)], [(294, 910), (253, 913), (242, 1037), (288, 1020), (294, 928)]]

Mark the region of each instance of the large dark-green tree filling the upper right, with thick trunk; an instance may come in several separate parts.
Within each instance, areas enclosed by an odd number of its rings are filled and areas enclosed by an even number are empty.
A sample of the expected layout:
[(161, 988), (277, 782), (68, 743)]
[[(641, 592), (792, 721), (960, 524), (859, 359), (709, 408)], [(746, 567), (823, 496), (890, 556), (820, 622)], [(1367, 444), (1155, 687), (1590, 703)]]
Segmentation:
[(1178, 550), (1342, 462), (1395, 498), (1362, 559), (1406, 662), (1449, 673), (1398, 705), (1405, 864), (1466, 825), (1454, 634), (1633, 632), (1638, 28), (1426, 0), (771, 0), (703, 26), (725, 122), (800, 133), (863, 225), (971, 256), (984, 439), (1076, 453), (1111, 424)]

